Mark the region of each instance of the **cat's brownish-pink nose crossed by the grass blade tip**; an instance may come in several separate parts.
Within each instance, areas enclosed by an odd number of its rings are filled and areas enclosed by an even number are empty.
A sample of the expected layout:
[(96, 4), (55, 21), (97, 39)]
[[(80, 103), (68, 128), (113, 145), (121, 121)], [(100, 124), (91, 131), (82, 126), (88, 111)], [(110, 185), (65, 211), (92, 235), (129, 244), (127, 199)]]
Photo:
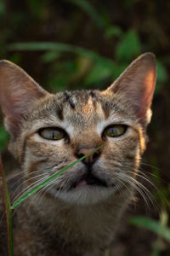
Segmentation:
[[(91, 146), (90, 147), (84, 147), (84, 146), (78, 147), (76, 156), (78, 159), (80, 159), (82, 156), (89, 154), (90, 152), (94, 151), (95, 149), (96, 149), (95, 147), (91, 147)], [(99, 159), (99, 155), (100, 155), (100, 152), (99, 152), (99, 150), (97, 150), (94, 153), (88, 155), (88, 157), (83, 159), (82, 162), (85, 165), (93, 165), (94, 162)]]

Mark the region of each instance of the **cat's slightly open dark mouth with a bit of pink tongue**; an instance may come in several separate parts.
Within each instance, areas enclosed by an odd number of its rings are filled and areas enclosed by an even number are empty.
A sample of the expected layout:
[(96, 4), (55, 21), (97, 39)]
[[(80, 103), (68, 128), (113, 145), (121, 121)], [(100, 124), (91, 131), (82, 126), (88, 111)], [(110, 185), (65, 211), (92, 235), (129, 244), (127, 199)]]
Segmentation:
[(74, 183), (72, 183), (70, 189), (75, 189), (77, 187), (82, 187), (86, 185), (99, 186), (105, 188), (107, 187), (107, 184), (104, 180), (94, 176), (94, 174), (86, 174), (83, 175), (82, 177), (79, 177)]

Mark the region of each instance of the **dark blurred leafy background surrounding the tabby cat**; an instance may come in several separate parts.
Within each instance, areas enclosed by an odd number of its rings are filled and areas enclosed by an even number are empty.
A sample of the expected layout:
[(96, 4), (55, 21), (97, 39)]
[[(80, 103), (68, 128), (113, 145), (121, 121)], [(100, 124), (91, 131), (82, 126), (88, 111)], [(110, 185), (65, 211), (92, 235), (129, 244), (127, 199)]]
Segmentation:
[[(157, 188), (144, 183), (158, 212), (149, 200), (150, 211), (138, 195), (120, 229), (116, 256), (170, 255), (170, 1), (0, 0), (0, 58), (23, 67), (49, 91), (105, 89), (147, 51), (156, 54), (158, 75), (141, 170)], [(7, 144), (0, 116), (6, 172), (15, 165)], [(139, 228), (141, 220), (128, 224), (128, 218), (138, 215), (156, 218), (155, 231)], [(159, 225), (168, 238), (159, 235)]]

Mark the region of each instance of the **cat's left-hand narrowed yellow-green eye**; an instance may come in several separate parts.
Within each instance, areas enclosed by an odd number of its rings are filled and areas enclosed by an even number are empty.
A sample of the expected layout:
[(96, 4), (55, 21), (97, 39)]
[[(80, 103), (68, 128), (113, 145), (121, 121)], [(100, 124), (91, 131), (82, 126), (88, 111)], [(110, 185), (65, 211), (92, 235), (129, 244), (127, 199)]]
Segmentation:
[(62, 131), (59, 128), (43, 128), (39, 131), (41, 137), (58, 141), (65, 137), (65, 131)]

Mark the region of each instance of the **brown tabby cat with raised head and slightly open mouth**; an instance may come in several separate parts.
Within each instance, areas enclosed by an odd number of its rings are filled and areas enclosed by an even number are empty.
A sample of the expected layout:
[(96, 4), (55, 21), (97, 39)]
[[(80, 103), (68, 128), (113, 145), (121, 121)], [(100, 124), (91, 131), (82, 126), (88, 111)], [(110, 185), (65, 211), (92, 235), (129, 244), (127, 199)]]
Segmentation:
[[(155, 84), (152, 53), (140, 55), (106, 90), (56, 94), (43, 90), (14, 63), (0, 61), (8, 149), (22, 170), (11, 196), (19, 197), (102, 146), (14, 212), (14, 256), (106, 255), (139, 190)], [(0, 209), (3, 214), (2, 199)], [(0, 255), (7, 255), (5, 224), (1, 226)]]

